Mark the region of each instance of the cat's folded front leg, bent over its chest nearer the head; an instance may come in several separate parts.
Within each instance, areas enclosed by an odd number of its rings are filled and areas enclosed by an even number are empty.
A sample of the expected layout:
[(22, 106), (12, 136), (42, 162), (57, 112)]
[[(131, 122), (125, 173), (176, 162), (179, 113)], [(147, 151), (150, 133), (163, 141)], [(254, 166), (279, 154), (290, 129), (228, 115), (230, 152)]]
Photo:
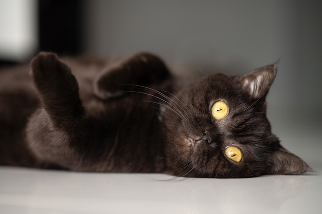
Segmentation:
[(165, 63), (156, 55), (137, 53), (100, 73), (94, 82), (94, 94), (101, 100), (124, 95), (133, 85), (160, 84), (171, 76)]

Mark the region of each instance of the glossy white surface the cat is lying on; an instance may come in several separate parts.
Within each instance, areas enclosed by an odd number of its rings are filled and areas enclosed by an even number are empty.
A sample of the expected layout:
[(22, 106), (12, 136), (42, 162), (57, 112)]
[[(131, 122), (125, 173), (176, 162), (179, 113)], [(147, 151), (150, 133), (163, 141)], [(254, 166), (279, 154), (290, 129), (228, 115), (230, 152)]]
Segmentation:
[(1, 213), (320, 213), (322, 177), (182, 179), (0, 168)]

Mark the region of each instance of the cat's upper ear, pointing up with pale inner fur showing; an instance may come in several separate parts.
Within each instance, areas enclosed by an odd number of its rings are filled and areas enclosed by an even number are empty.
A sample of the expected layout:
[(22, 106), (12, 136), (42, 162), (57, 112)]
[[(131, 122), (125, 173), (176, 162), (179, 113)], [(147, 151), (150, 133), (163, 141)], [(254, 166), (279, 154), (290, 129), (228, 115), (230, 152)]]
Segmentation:
[(275, 64), (256, 69), (246, 75), (237, 76), (235, 80), (253, 99), (266, 96), (273, 84), (279, 61)]

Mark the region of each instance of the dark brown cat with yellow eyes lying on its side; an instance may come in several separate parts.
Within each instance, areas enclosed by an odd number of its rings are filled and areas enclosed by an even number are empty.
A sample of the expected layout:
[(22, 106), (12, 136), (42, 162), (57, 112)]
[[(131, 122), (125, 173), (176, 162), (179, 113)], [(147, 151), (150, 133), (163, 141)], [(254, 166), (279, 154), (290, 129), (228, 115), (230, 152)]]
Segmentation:
[(312, 171), (266, 118), (277, 67), (185, 83), (151, 53), (40, 52), (0, 72), (0, 165), (202, 178)]

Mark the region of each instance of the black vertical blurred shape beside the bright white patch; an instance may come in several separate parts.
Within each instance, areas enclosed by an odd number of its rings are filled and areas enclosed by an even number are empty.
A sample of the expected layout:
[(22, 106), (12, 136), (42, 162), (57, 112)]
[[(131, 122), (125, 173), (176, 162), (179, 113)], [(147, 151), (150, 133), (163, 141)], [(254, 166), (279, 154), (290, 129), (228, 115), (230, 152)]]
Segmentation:
[(39, 50), (59, 55), (83, 52), (83, 1), (39, 0)]

